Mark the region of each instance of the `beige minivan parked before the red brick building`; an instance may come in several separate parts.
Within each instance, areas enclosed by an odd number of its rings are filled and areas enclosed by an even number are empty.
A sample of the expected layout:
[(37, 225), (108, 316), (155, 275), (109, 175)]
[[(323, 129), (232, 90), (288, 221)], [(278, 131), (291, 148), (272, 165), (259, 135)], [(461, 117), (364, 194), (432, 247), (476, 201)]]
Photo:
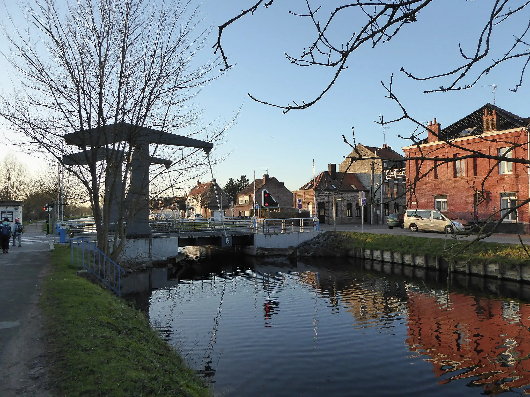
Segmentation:
[(460, 219), (450, 211), (408, 210), (403, 222), (405, 228), (413, 232), (418, 230), (441, 231), (448, 234), (471, 230), (469, 222)]

